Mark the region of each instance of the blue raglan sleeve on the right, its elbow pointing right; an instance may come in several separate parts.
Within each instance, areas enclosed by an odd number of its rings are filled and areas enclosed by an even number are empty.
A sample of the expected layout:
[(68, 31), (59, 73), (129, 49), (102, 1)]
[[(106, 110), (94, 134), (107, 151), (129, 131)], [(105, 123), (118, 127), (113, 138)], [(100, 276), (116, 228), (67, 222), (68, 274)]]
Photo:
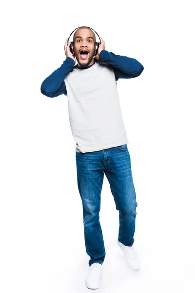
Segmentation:
[(139, 76), (144, 67), (136, 59), (115, 55), (112, 52), (101, 50), (99, 54), (100, 62), (105, 62), (111, 65), (115, 72), (116, 81), (119, 78), (134, 78)]

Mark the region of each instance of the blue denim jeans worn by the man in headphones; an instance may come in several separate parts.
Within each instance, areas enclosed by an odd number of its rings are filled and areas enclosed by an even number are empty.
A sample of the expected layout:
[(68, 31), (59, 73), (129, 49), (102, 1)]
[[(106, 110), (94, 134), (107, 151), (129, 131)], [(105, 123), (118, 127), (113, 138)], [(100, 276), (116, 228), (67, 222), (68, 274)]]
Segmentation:
[(129, 150), (127, 145), (122, 145), (93, 152), (76, 152), (76, 163), (89, 266), (94, 262), (102, 264), (106, 253), (99, 211), (104, 173), (119, 211), (118, 241), (126, 246), (134, 243), (137, 202)]

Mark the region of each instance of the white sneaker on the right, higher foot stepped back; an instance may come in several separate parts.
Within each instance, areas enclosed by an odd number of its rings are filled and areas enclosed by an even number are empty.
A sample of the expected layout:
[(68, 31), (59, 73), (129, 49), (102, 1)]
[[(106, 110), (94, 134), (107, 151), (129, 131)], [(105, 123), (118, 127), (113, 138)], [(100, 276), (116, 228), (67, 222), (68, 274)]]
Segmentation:
[(119, 242), (118, 239), (117, 239), (117, 244), (125, 255), (125, 259), (126, 259), (128, 267), (133, 271), (138, 271), (140, 267), (139, 259), (138, 259), (136, 251), (134, 251), (133, 249), (133, 246), (126, 246), (122, 244), (121, 242)]

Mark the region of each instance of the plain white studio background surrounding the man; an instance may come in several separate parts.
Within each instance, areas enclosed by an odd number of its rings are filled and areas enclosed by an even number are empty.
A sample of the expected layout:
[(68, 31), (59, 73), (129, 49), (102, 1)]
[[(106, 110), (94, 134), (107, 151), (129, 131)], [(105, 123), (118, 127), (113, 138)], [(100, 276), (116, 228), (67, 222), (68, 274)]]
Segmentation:
[[(117, 246), (106, 176), (100, 223), (102, 293), (195, 292), (195, 46), (193, 1), (9, 1), (1, 5), (0, 292), (83, 293), (89, 256), (67, 97), (41, 94), (78, 26), (142, 74), (117, 89), (137, 193), (135, 249)], [(72, 35), (73, 36), (73, 35)], [(71, 41), (71, 40), (70, 40)]]

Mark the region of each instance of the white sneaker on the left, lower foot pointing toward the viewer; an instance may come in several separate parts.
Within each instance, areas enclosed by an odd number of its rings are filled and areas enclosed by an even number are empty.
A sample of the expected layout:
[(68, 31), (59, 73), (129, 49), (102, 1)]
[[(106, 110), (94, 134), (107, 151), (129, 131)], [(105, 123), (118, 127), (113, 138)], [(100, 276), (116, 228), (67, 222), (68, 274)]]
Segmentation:
[(89, 289), (98, 289), (101, 285), (102, 265), (99, 263), (93, 263), (89, 267), (88, 276), (85, 280), (85, 285)]

